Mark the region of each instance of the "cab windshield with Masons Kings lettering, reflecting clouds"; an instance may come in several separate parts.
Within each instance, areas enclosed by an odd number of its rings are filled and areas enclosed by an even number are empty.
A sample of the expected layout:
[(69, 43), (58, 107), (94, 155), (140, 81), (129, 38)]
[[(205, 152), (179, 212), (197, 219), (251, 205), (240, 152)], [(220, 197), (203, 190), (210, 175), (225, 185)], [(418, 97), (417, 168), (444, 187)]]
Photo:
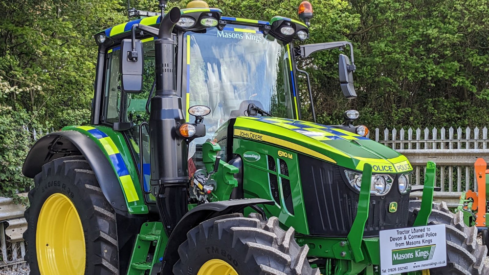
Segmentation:
[(222, 31), (187, 32), (184, 39), (187, 108), (211, 108), (204, 119), (208, 134), (247, 115), (250, 103), (272, 116), (293, 118), (287, 45), (265, 38), (256, 27), (232, 24)]

